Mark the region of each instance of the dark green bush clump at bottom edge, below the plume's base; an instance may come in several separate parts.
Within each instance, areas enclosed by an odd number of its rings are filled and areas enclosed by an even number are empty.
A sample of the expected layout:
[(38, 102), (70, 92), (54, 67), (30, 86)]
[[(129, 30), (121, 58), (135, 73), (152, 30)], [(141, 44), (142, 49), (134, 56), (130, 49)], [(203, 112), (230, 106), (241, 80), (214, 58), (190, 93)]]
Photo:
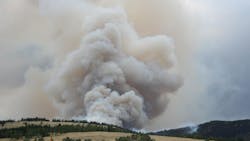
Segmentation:
[(127, 137), (117, 138), (116, 141), (154, 141), (147, 134), (133, 134)]

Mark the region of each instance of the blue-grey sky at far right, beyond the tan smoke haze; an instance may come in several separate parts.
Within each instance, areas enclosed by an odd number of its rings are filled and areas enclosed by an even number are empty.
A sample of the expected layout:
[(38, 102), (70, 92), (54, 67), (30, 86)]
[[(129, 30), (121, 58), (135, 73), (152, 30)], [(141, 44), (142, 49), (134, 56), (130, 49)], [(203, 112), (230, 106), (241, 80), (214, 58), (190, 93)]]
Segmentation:
[(209, 2), (208, 6), (214, 17), (206, 30), (216, 32), (204, 36), (204, 49), (199, 52), (200, 64), (209, 75), (207, 95), (215, 99), (219, 117), (249, 118), (250, 2)]

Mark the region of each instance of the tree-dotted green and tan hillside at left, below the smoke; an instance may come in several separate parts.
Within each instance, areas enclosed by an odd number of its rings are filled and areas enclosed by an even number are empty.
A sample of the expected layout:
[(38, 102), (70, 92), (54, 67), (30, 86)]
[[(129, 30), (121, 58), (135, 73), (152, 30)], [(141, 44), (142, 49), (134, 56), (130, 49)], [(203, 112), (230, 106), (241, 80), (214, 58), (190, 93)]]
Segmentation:
[(59, 119), (49, 121), (45, 118), (0, 121), (0, 138), (47, 137), (51, 134), (91, 131), (135, 133), (115, 125), (87, 121)]

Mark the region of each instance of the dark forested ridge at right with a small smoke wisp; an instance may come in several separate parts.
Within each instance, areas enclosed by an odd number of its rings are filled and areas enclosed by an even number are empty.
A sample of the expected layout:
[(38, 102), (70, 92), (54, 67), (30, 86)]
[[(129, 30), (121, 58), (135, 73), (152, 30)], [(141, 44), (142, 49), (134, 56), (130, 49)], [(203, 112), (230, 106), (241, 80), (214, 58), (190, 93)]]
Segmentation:
[(151, 134), (216, 141), (250, 141), (250, 120), (211, 121), (197, 127), (164, 130)]

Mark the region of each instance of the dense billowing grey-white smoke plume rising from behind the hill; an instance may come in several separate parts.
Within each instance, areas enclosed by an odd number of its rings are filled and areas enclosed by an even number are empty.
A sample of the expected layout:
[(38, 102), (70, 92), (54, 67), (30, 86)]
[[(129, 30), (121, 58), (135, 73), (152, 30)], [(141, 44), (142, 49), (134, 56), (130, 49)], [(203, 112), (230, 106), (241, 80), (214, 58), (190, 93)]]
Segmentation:
[(121, 8), (86, 5), (81, 45), (57, 62), (47, 92), (65, 118), (140, 128), (182, 84), (173, 42), (139, 37)]

